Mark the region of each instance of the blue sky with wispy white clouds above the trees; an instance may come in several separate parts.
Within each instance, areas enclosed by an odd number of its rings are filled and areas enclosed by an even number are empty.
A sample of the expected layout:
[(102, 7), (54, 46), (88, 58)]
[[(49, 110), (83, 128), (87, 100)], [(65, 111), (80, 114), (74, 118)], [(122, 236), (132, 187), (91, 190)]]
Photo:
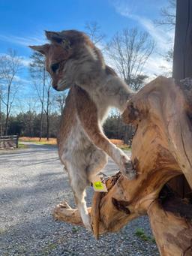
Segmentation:
[[(0, 0), (0, 54), (8, 48), (23, 57), (20, 79), (28, 80), (30, 44), (43, 44), (43, 30), (85, 30), (86, 22), (97, 22), (109, 41), (115, 32), (138, 27), (151, 35), (156, 50), (145, 71), (160, 74), (160, 65), (167, 65), (160, 54), (169, 50), (173, 32), (154, 26), (154, 19), (167, 0)], [(26, 83), (30, 86), (30, 83)]]

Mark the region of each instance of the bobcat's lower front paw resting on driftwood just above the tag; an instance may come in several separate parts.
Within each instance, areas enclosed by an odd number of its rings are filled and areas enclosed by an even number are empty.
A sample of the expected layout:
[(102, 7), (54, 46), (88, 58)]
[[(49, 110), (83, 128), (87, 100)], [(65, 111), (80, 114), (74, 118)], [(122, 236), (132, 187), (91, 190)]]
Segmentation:
[(124, 155), (121, 156), (121, 173), (127, 177), (127, 179), (136, 179), (136, 170), (133, 169), (133, 165), (129, 159)]

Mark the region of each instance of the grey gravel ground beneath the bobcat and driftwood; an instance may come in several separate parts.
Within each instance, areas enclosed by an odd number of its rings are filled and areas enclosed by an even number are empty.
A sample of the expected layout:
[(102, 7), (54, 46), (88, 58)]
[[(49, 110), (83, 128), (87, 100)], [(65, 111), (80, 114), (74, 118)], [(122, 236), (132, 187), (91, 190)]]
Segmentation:
[[(105, 168), (114, 173), (113, 161)], [(110, 170), (110, 171), (109, 171)], [(96, 241), (83, 227), (54, 221), (52, 210), (74, 198), (55, 147), (30, 143), (28, 149), (0, 152), (0, 255), (159, 255), (147, 217), (127, 224), (119, 233)], [(92, 188), (88, 191), (88, 202)]]

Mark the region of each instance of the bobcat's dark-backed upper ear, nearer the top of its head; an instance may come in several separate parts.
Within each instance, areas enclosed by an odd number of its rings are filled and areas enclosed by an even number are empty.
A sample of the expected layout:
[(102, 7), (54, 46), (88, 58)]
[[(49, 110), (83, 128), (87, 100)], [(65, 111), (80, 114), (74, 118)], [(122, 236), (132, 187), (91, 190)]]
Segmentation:
[(62, 44), (66, 50), (71, 48), (71, 42), (61, 32), (45, 31), (46, 38), (52, 43)]

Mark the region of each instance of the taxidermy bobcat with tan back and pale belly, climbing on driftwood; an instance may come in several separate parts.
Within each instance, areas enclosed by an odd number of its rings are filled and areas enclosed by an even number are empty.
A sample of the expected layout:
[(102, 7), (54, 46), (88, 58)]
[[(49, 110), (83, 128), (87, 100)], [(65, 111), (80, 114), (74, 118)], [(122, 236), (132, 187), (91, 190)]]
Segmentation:
[(58, 135), (58, 152), (68, 170), (83, 223), (91, 229), (86, 187), (107, 164), (107, 155), (128, 179), (136, 176), (130, 158), (102, 131), (110, 107), (123, 112), (132, 92), (105, 65), (101, 51), (83, 32), (46, 32), (46, 38), (50, 44), (31, 48), (46, 57), (46, 71), (52, 77), (53, 88), (71, 88)]

